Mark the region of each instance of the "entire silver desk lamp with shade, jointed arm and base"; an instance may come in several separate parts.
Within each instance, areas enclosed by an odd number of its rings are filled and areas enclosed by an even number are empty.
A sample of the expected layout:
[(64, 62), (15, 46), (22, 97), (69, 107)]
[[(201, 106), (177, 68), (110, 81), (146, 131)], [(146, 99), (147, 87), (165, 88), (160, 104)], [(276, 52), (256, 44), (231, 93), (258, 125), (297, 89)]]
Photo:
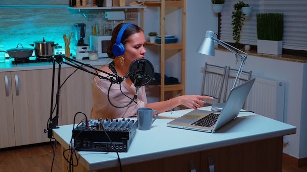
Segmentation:
[[(232, 53), (234, 53), (235, 55), (239, 56), (241, 58), (241, 64), (238, 70), (238, 73), (235, 77), (234, 83), (232, 88), (238, 86), (239, 84), (239, 80), (241, 77), (241, 73), (243, 71), (243, 67), (247, 58), (247, 53), (235, 48), (234, 46), (231, 46), (228, 43), (225, 43), (217, 38), (214, 38), (215, 33), (207, 30), (206, 34), (205, 34), (205, 39), (203, 40), (203, 42), (200, 44), (200, 46), (197, 48), (197, 52), (201, 53), (201, 54), (205, 54), (205, 55), (209, 55), (209, 56), (214, 56), (214, 41), (217, 42), (218, 44), (222, 45), (223, 47), (225, 47), (226, 49), (230, 50)], [(241, 52), (244, 55), (241, 55), (238, 53)], [(232, 89), (231, 88), (231, 89)], [(224, 107), (225, 103), (217, 103), (217, 104), (213, 104), (212, 105), (212, 110), (213, 111), (221, 111)]]

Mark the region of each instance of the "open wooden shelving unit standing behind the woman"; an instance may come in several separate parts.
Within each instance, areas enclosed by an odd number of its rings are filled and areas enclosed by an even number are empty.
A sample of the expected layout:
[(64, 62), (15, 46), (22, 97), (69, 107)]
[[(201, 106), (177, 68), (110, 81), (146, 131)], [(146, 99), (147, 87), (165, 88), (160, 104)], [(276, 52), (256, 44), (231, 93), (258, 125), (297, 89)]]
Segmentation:
[[(185, 0), (161, 0), (161, 1), (144, 1), (142, 0), (145, 6), (147, 7), (158, 7), (160, 13), (159, 25), (160, 25), (160, 36), (161, 43), (150, 43), (147, 42), (146, 45), (156, 45), (160, 47), (159, 54), (159, 67), (161, 74), (161, 83), (160, 83), (160, 101), (165, 100), (165, 92), (173, 91), (173, 96), (176, 96), (178, 93), (180, 95), (184, 94), (184, 75), (185, 75)], [(165, 28), (169, 27), (165, 22), (166, 15), (168, 14), (168, 8), (176, 7), (177, 10), (181, 10), (181, 39), (179, 43), (165, 43)], [(141, 20), (144, 19), (144, 9), (141, 11)], [(141, 21), (141, 27), (144, 28), (144, 21)], [(174, 26), (172, 26), (174, 27)], [(180, 64), (180, 83), (173, 85), (166, 85), (164, 82), (165, 75), (165, 61), (174, 54), (173, 51), (178, 51), (179, 55), (179, 64)]]

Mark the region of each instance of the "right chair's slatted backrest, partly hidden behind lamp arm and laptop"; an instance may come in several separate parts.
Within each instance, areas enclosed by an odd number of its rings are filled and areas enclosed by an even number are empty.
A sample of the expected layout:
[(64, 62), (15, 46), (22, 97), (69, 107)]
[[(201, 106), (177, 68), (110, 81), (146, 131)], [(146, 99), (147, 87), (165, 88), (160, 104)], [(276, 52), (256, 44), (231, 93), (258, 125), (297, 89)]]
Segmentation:
[[(238, 70), (228, 67), (226, 73), (227, 73), (227, 77), (225, 79), (225, 89), (223, 91), (224, 92), (224, 96), (223, 96), (223, 102), (224, 103), (226, 102), (228, 95), (230, 94), (230, 90), (233, 87), (234, 80), (237, 76)], [(242, 71), (241, 77), (240, 77), (239, 82), (238, 82), (238, 86), (247, 82), (247, 81), (249, 81), (251, 79), (251, 76), (252, 76), (252, 71), (249, 71), (249, 72)]]

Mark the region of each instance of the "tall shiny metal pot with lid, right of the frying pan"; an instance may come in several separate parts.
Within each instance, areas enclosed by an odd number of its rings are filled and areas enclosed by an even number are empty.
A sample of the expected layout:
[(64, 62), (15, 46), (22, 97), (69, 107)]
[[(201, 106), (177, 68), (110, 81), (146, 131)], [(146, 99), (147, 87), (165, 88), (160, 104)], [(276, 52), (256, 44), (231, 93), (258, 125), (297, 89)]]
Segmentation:
[[(34, 43), (34, 52), (37, 58), (52, 57), (54, 55), (54, 47), (58, 45), (58, 43), (54, 44), (54, 41), (45, 41), (45, 38), (43, 38), (43, 41), (37, 41)], [(31, 45), (34, 46), (33, 44)]]

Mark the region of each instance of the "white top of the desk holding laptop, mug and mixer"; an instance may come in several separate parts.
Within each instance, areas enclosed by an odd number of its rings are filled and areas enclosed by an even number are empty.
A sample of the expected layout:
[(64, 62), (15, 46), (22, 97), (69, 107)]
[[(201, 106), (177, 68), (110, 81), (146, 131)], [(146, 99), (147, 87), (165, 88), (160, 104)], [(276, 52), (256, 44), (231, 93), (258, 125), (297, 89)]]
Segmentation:
[[(137, 129), (128, 152), (119, 152), (122, 165), (296, 133), (294, 126), (251, 112), (240, 112), (237, 118), (214, 133), (166, 126), (191, 110), (161, 113), (151, 130)], [(72, 129), (73, 125), (53, 129), (54, 138), (65, 149), (69, 148)], [(78, 151), (77, 154), (81, 155), (79, 163), (89, 171), (118, 166), (116, 152)]]

